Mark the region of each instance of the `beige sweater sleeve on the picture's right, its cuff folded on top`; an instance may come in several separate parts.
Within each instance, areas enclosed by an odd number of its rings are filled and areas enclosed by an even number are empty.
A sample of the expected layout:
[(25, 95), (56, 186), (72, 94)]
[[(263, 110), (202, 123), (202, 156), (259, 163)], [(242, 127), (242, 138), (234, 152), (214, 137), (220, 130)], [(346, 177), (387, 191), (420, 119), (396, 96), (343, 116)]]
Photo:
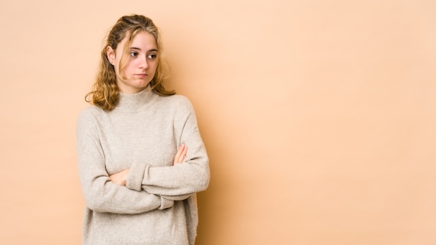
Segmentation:
[(194, 109), (190, 102), (185, 107), (188, 110), (182, 120), (180, 136), (180, 142), (188, 147), (185, 161), (175, 166), (151, 166), (143, 162), (135, 162), (130, 168), (130, 173), (141, 174), (128, 176), (127, 187), (143, 189), (169, 200), (183, 200), (192, 193), (204, 191), (208, 187), (210, 179), (208, 155), (198, 130)]

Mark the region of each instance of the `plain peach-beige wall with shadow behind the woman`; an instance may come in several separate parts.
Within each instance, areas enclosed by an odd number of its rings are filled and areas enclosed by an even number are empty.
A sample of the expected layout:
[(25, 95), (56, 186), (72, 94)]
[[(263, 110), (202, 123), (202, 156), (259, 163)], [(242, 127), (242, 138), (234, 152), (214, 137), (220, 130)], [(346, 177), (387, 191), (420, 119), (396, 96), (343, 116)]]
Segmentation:
[(197, 244), (436, 244), (436, 2), (0, 1), (0, 243), (79, 244), (102, 39), (152, 17), (210, 154)]

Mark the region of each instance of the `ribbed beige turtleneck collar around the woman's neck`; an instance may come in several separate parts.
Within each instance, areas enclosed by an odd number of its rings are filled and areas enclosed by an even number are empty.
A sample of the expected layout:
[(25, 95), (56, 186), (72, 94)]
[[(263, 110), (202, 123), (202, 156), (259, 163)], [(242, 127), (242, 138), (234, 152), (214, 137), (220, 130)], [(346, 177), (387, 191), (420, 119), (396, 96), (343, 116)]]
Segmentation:
[(152, 100), (155, 93), (150, 90), (150, 86), (132, 95), (120, 93), (120, 100), (115, 109), (123, 111), (136, 111)]

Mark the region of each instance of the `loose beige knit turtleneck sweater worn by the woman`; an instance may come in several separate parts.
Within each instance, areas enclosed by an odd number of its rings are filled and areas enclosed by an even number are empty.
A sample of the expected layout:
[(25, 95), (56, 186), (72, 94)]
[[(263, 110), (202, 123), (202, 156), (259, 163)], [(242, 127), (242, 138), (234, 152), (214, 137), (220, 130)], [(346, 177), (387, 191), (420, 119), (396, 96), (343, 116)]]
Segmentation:
[[(178, 146), (185, 162), (173, 166)], [(113, 111), (89, 106), (77, 122), (86, 200), (83, 244), (194, 244), (196, 192), (208, 187), (208, 156), (192, 104), (145, 89)], [(126, 187), (109, 175), (130, 168)]]

